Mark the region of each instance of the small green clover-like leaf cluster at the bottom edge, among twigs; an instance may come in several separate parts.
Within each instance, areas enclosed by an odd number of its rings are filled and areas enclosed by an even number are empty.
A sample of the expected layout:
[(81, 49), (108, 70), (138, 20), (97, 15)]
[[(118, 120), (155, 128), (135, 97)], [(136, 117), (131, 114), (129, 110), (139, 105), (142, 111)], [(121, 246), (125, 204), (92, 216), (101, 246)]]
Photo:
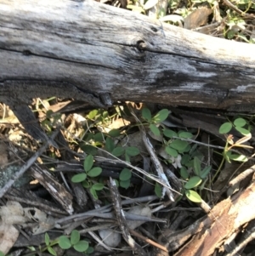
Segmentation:
[(80, 232), (78, 230), (71, 231), (71, 237), (60, 236), (58, 239), (59, 247), (64, 250), (73, 247), (79, 253), (93, 253), (94, 248), (89, 246), (88, 241), (81, 240)]

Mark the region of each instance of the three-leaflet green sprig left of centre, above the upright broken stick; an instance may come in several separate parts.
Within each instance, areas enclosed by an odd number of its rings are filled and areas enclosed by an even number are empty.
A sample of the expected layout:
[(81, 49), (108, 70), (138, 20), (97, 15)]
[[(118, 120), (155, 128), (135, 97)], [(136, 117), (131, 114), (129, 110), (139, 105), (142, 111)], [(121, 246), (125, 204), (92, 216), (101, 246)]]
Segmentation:
[[(104, 189), (104, 185), (94, 182), (92, 178), (98, 177), (102, 173), (102, 168), (94, 167), (94, 156), (88, 155), (83, 162), (84, 173), (76, 174), (71, 178), (74, 183), (82, 182), (83, 187), (89, 188), (90, 193), (98, 199), (97, 191)], [(88, 179), (89, 178), (89, 179)]]

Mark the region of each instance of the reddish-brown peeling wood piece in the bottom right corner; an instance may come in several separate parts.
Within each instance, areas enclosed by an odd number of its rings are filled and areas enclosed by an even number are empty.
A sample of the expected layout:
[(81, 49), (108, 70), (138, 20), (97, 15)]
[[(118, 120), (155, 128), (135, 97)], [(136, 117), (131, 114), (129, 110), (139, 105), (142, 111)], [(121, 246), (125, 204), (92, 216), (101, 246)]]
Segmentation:
[(172, 233), (168, 238), (164, 237), (167, 239), (165, 246), (174, 250), (184, 245), (174, 256), (209, 256), (216, 248), (222, 246), (229, 236), (239, 232), (243, 225), (254, 218), (255, 184), (252, 183), (245, 191), (219, 202), (212, 208), (211, 213), (198, 219), (185, 230)]

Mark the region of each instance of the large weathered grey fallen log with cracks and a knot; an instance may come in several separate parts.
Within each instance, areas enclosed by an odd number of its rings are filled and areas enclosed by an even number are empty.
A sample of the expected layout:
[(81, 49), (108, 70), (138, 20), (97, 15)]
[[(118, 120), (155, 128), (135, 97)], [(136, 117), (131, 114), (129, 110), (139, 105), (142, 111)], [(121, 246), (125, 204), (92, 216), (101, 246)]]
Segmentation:
[(0, 101), (61, 96), (253, 111), (255, 45), (86, 1), (0, 0)]

